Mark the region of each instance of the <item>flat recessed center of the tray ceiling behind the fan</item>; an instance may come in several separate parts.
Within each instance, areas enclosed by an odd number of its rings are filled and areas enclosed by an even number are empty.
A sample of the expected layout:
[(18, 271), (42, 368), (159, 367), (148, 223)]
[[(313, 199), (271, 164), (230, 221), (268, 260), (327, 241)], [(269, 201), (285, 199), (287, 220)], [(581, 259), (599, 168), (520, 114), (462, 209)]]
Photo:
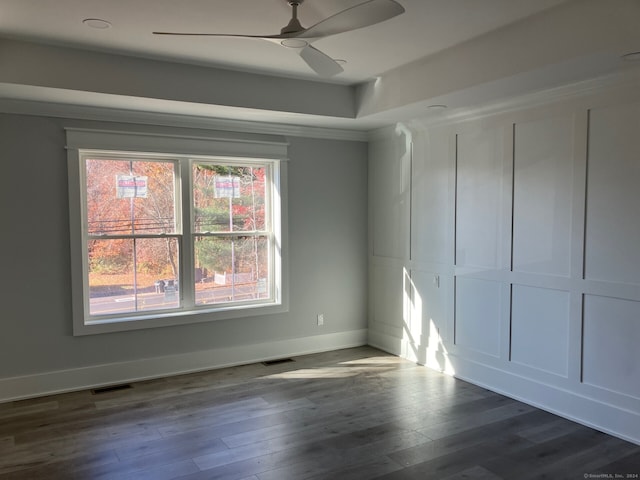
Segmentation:
[[(304, 26), (364, 0), (305, 0)], [(344, 59), (333, 82), (359, 83), (521, 20), (565, 0), (400, 0), (406, 12), (378, 25), (320, 39)], [(314, 78), (295, 51), (253, 39), (160, 37), (153, 31), (275, 34), (286, 0), (0, 0), (0, 35), (244, 71)], [(105, 30), (83, 24), (99, 18)]]

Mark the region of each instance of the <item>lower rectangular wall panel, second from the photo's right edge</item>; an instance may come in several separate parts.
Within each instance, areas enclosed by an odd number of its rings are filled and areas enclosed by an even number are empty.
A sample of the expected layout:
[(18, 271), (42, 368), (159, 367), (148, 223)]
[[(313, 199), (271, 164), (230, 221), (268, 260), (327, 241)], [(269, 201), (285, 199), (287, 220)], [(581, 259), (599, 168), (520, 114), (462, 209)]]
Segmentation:
[(511, 361), (566, 377), (569, 293), (514, 285), (511, 301)]

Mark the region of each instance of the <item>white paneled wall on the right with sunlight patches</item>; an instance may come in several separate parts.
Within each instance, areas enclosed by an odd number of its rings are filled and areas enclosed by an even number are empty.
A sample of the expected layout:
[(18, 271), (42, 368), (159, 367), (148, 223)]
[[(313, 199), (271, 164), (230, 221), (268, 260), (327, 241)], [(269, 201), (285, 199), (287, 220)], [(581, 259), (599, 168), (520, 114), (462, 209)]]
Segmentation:
[(640, 443), (635, 83), (376, 132), (370, 343)]

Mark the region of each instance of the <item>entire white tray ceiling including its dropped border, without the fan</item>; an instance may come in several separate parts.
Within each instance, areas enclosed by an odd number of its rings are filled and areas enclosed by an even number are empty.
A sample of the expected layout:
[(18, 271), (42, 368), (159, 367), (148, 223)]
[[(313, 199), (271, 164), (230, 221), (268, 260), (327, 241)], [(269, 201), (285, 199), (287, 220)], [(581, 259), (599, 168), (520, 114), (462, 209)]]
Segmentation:
[[(299, 18), (364, 1), (304, 0)], [(639, 0), (397, 1), (400, 16), (314, 42), (347, 62), (328, 80), (271, 42), (152, 34), (276, 34), (287, 0), (0, 0), (0, 103), (366, 131), (608, 75), (640, 51)]]

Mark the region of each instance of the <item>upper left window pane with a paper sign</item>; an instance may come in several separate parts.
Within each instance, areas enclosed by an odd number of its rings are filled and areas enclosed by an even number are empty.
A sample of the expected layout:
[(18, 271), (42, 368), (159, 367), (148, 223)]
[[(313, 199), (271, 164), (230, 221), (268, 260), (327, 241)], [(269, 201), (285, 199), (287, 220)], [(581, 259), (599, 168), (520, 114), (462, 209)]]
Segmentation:
[(172, 162), (88, 159), (89, 235), (175, 233)]

